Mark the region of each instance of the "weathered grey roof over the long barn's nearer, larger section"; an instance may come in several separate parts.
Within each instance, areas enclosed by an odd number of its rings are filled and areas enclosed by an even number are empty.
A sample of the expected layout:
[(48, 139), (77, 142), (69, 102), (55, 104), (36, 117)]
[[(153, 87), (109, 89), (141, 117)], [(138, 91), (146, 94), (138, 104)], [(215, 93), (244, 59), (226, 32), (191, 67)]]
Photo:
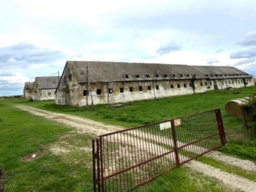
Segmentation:
[(158, 63), (125, 63), (104, 61), (67, 61), (67, 66), (80, 83), (86, 82), (86, 67), (90, 82), (150, 81), (163, 79), (205, 79), (195, 68), (188, 65)]

